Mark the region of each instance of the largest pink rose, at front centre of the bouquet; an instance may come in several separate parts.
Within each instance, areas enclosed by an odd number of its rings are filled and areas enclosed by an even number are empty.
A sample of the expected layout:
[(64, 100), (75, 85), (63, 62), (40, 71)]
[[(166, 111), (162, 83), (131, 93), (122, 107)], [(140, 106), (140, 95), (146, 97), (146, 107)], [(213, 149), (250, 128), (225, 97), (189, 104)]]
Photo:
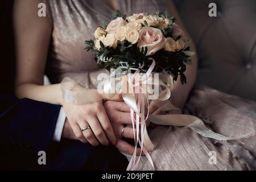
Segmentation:
[(165, 42), (166, 38), (164, 38), (161, 30), (153, 27), (143, 27), (142, 30), (139, 31), (139, 42), (137, 46), (139, 48), (147, 47), (148, 56), (162, 49)]

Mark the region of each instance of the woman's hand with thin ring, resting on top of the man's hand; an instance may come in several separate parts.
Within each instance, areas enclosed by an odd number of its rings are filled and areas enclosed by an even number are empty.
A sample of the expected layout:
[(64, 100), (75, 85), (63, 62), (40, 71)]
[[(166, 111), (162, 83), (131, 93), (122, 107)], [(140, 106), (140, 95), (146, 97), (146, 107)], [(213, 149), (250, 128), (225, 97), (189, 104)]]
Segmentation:
[[(87, 143), (88, 141), (93, 146), (98, 146), (100, 143), (103, 145), (116, 144), (117, 139), (102, 101), (85, 105), (65, 102), (63, 108), (73, 132), (81, 142)], [(90, 127), (90, 129), (82, 131), (86, 127)]]

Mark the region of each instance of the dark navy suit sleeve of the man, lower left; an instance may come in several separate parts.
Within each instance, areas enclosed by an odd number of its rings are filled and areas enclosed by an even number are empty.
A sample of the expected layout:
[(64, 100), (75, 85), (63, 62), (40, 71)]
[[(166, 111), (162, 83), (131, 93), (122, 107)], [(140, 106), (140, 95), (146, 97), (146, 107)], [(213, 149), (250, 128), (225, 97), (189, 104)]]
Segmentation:
[(1, 97), (0, 101), (0, 143), (22, 146), (36, 155), (47, 151), (60, 106), (27, 98)]

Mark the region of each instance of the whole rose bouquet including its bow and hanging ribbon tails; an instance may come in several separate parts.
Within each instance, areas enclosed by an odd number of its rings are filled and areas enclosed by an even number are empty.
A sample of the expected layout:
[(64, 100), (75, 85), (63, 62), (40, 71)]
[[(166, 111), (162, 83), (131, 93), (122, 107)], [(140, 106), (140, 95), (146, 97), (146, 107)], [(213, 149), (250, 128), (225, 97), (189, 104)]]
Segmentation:
[[(175, 18), (170, 17), (168, 12), (155, 14), (133, 14), (126, 17), (117, 11), (113, 20), (105, 27), (98, 27), (94, 32), (95, 40), (85, 41), (87, 51), (93, 51), (100, 68), (115, 69), (121, 75), (121, 86), (130, 86), (132, 89), (142, 92), (119, 92), (123, 100), (131, 108), (131, 121), (134, 130), (135, 151), (127, 169), (136, 169), (141, 156), (136, 160), (137, 146), (141, 146), (141, 152), (146, 154), (152, 166), (152, 159), (148, 152), (154, 150), (147, 134), (146, 120), (150, 117), (145, 113), (144, 107), (148, 105), (148, 93), (145, 91), (148, 85), (153, 88), (164, 86), (167, 92), (164, 96), (157, 96), (152, 100), (168, 101), (170, 94), (170, 75), (173, 81), (180, 76), (182, 84), (186, 83), (184, 72), (186, 65), (190, 65), (194, 52), (189, 50), (189, 40), (181, 28), (175, 23)], [(121, 71), (119, 68), (122, 68)], [(146, 73), (142, 80), (135, 80), (135, 73)], [(164, 76), (158, 80), (148, 79), (151, 73), (162, 73)], [(130, 74), (130, 76), (128, 76)], [(112, 76), (113, 74), (110, 74)], [(114, 76), (115, 73), (114, 73)], [(150, 81), (148, 81), (150, 80)], [(156, 83), (157, 82), (157, 83)], [(114, 88), (110, 81), (106, 80), (109, 90)], [(145, 92), (143, 92), (145, 91)], [(146, 99), (145, 99), (146, 98)], [(146, 100), (146, 101), (145, 101)], [(170, 107), (169, 107), (170, 108)], [(134, 117), (134, 114), (136, 117)], [(147, 115), (145, 117), (145, 115)], [(166, 116), (164, 116), (166, 117)], [(158, 124), (171, 125), (170, 118), (155, 118)], [(139, 137), (141, 135), (141, 137)], [(136, 136), (136, 137), (135, 137)], [(136, 138), (136, 139), (135, 139)]]

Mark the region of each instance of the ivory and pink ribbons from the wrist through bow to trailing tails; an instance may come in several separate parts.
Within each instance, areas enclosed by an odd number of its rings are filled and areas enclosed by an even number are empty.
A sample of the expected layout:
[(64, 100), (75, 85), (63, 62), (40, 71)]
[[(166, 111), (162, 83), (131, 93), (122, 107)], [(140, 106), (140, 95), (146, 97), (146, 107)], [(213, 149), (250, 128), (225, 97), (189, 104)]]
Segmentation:
[[(202, 135), (203, 137), (213, 138), (216, 140), (231, 140), (245, 137), (238, 136), (237, 138), (225, 137), (224, 135), (214, 133), (212, 130), (209, 130), (201, 119), (193, 116), (193, 115), (184, 115), (184, 114), (166, 114), (166, 115), (152, 115), (149, 114), (149, 111), (145, 113), (145, 107), (148, 107), (148, 96), (152, 94), (152, 86), (162, 86), (165, 88), (164, 94), (160, 94), (158, 98), (154, 101), (156, 105), (160, 106), (162, 110), (173, 110), (177, 109), (177, 107), (173, 106), (168, 98), (171, 97), (170, 88), (172, 85), (171, 79), (169, 75), (164, 75), (160, 73), (159, 83), (156, 84), (151, 78), (149, 78), (150, 73), (155, 67), (155, 60), (152, 60), (152, 64), (146, 74), (142, 77), (141, 81), (134, 82), (136, 73), (139, 73), (139, 69), (135, 71), (135, 73), (131, 76), (122, 72), (121, 68), (115, 69), (113, 73), (110, 74), (109, 78), (105, 81), (104, 84), (104, 93), (100, 94), (96, 89), (85, 89), (71, 78), (64, 78), (61, 82), (61, 90), (63, 93), (63, 98), (66, 102), (72, 104), (88, 104), (91, 102), (100, 101), (104, 98), (112, 98), (119, 94), (122, 95), (123, 101), (130, 107), (131, 113), (131, 123), (133, 125), (134, 130), (134, 142), (135, 142), (135, 150), (133, 156), (131, 157), (130, 163), (127, 167), (127, 170), (136, 170), (139, 164), (139, 160), (141, 158), (142, 151), (146, 155), (149, 160), (152, 168), (154, 169), (154, 163), (150, 157), (148, 152), (154, 150), (154, 144), (151, 142), (150, 137), (147, 133), (147, 123), (146, 121), (150, 121), (152, 123), (158, 125), (167, 125), (167, 126), (188, 126), (196, 133)], [(124, 76), (117, 77), (119, 74)], [(120, 84), (119, 93), (111, 93), (110, 90), (110, 78), (115, 77), (115, 81)], [(77, 86), (79, 85), (79, 86)], [(126, 93), (123, 92), (125, 86), (131, 90), (140, 90), (139, 93)], [(145, 90), (146, 89), (146, 90)], [(150, 93), (148, 93), (148, 90)], [(160, 103), (163, 102), (163, 103)], [(135, 114), (135, 117), (134, 117)], [(136, 133), (135, 133), (136, 129)], [(141, 137), (139, 138), (139, 134)], [(141, 146), (141, 152), (136, 161), (136, 152), (138, 150), (138, 145)]]

